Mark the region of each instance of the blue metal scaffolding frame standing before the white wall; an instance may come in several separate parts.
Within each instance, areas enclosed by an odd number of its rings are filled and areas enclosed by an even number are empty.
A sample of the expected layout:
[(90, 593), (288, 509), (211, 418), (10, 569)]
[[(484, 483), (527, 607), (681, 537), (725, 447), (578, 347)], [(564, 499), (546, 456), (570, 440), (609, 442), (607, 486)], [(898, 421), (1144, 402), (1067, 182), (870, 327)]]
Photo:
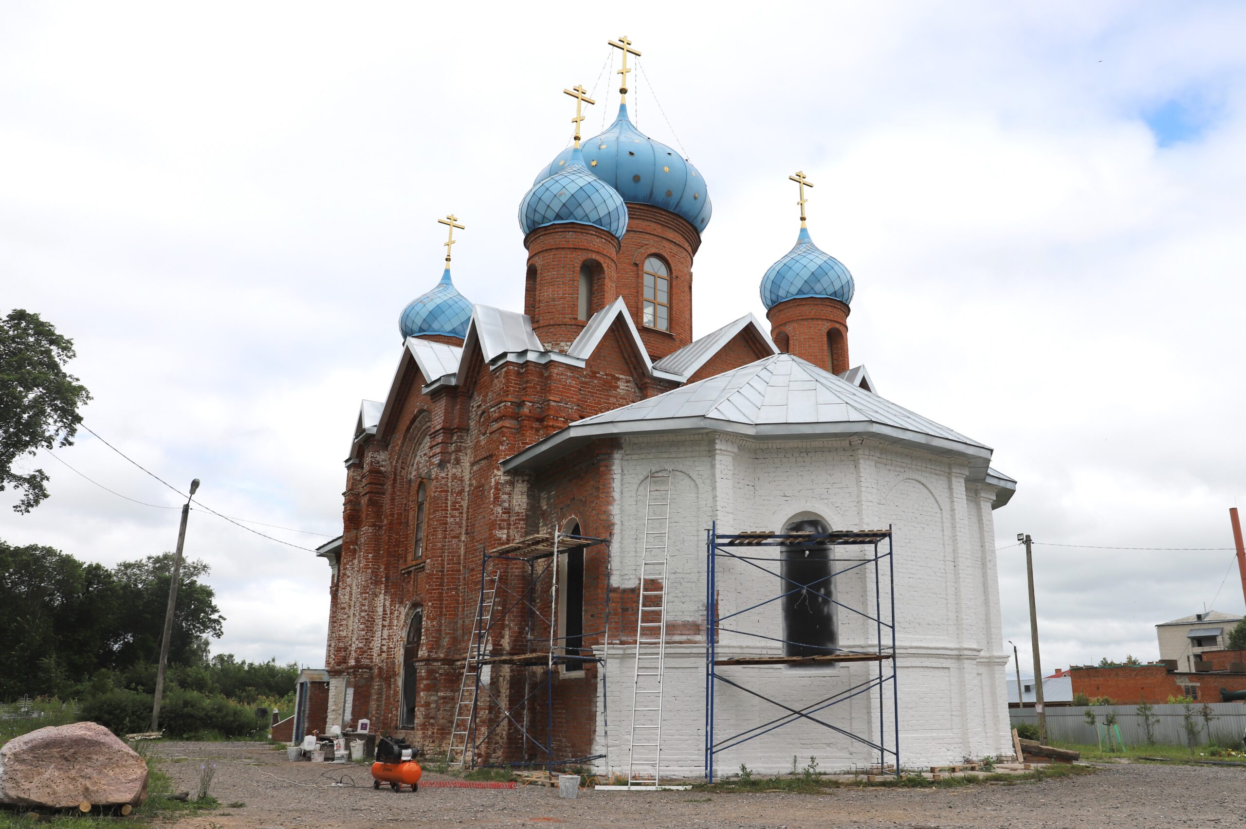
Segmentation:
[[(880, 553), (880, 545), (886, 541), (887, 549), (885, 553)], [(741, 554), (739, 550), (755, 550), (758, 548), (773, 548), (781, 546), (785, 549), (812, 549), (812, 548), (841, 548), (841, 546), (862, 546), (868, 545), (873, 548), (873, 555), (867, 558), (852, 558), (841, 559), (831, 558), (832, 564), (851, 564), (851, 566), (845, 566), (841, 570), (835, 570), (832, 566), (832, 573), (829, 578), (819, 579), (809, 584), (801, 584), (794, 581), (782, 575), (781, 568), (776, 573), (774, 570), (764, 566), (766, 563), (779, 564), (782, 561), (781, 558), (765, 558), (760, 555), (748, 555)], [(761, 550), (758, 550), (761, 551)], [(878, 752), (878, 773), (887, 773), (887, 757), (890, 756), (893, 761), (892, 769), (896, 777), (900, 777), (900, 691), (896, 682), (896, 568), (895, 568), (895, 549), (892, 545), (891, 528), (886, 530), (866, 530), (866, 532), (840, 532), (840, 533), (739, 533), (734, 535), (720, 535), (718, 533), (718, 522), (714, 522), (710, 529), (705, 530), (705, 558), (706, 558), (706, 578), (705, 578), (705, 779), (710, 783), (714, 782), (714, 756), (719, 752), (734, 748), (741, 743), (745, 743), (755, 737), (775, 731), (776, 728), (782, 728), (784, 726), (791, 724), (794, 722), (806, 722), (821, 726), (839, 733), (849, 739), (854, 739), (870, 747), (872, 751)], [(719, 559), (725, 558), (729, 561), (743, 561), (749, 566), (754, 566), (763, 573), (768, 573), (785, 585), (790, 585), (790, 590), (779, 592), (779, 595), (771, 596), (764, 601), (745, 607), (744, 610), (736, 610), (734, 612), (726, 614), (724, 616), (718, 615), (718, 568)], [(881, 596), (881, 574), (880, 565), (886, 561), (887, 564), (887, 583), (890, 585), (888, 597), (890, 597), (890, 615), (885, 619), (882, 615), (882, 596)], [(873, 570), (873, 614), (868, 612), (868, 596), (866, 596), (866, 607), (858, 609), (837, 601), (831, 595), (830, 590), (825, 594), (820, 589), (815, 588), (819, 581), (826, 581), (831, 584), (836, 576), (844, 575), (858, 568), (871, 568)], [(824, 588), (825, 589), (825, 588)], [(851, 611), (858, 616), (862, 616), (868, 621), (873, 622), (873, 629), (876, 634), (876, 641), (873, 644), (873, 650), (846, 650), (839, 647), (820, 647), (811, 646), (806, 642), (792, 642), (785, 639), (776, 639), (774, 636), (765, 636), (763, 634), (750, 632), (745, 630), (738, 630), (739, 625), (733, 627), (723, 627), (721, 622), (741, 617), (749, 611), (758, 610), (770, 605), (771, 602), (780, 601), (784, 596), (795, 594), (796, 591), (809, 590), (814, 595), (825, 599), (836, 607)], [(890, 635), (890, 646), (886, 644), (886, 634)], [(756, 639), (764, 639), (771, 642), (779, 644), (792, 644), (800, 645), (804, 649), (814, 647), (815, 650), (826, 651), (826, 653), (817, 656), (761, 656), (761, 657), (740, 657), (740, 658), (719, 658), (718, 656), (718, 639), (720, 632), (736, 634), (744, 636), (753, 636)], [(817, 665), (817, 663), (839, 663), (839, 662), (877, 662), (878, 673), (877, 676), (871, 676), (865, 682), (857, 682), (847, 688), (842, 688), (829, 697), (824, 697), (816, 702), (811, 702), (800, 708), (792, 708), (791, 706), (784, 705), (778, 700), (756, 691), (754, 688), (745, 687), (740, 682), (725, 677), (718, 672), (719, 666), (748, 666), (748, 665)], [(883, 665), (890, 663), (890, 671), (883, 670)], [(769, 722), (761, 723), (760, 726), (754, 726), (753, 728), (746, 728), (739, 733), (731, 734), (729, 737), (723, 737), (721, 739), (715, 739), (715, 721), (714, 721), (714, 693), (719, 682), (729, 685), (739, 691), (756, 697), (764, 702), (781, 708), (785, 713), (770, 719)], [(891, 713), (892, 713), (892, 734), (891, 734), (891, 747), (887, 746), (887, 717), (883, 716), (883, 700), (887, 692), (887, 686), (891, 686)], [(868, 695), (871, 691), (877, 688), (878, 691), (878, 742), (873, 742), (866, 734), (854, 733), (846, 728), (840, 728), (824, 719), (819, 719), (812, 716), (820, 711), (830, 708), (832, 706), (847, 702), (849, 700), (856, 698), (861, 695)]]

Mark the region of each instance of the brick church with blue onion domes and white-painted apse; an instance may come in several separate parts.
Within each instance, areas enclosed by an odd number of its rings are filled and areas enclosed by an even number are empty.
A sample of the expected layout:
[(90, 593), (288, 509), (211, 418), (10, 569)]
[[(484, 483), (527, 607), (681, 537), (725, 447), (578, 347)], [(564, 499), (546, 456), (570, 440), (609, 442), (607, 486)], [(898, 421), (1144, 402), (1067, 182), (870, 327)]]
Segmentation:
[[(492, 631), (495, 663), (480, 681), (497, 705), (477, 711), (476, 759), (540, 763), (553, 751), (604, 770), (608, 753), (609, 770), (625, 769), (645, 499), (658, 473), (670, 493), (663, 774), (701, 772), (714, 522), (724, 532), (893, 525), (906, 763), (1011, 753), (992, 510), (1015, 482), (989, 468), (991, 448), (880, 397), (863, 366), (850, 367), (854, 281), (812, 243), (801, 179), (796, 245), (759, 275), (770, 330), (746, 314), (693, 337), (709, 190), (690, 162), (637, 129), (625, 103), (521, 200), (526, 273), (501, 278), (523, 280), (522, 312), (468, 302), (446, 256), (441, 281), (401, 314), (389, 392), (360, 407), (343, 538), (320, 553), (333, 574), (324, 727), (369, 718), (374, 732), (445, 752), (481, 585), (493, 578), (482, 554), (508, 544), (522, 554), (536, 549), (523, 539), (559, 530), (611, 543), (558, 556), (557, 606)], [(714, 290), (714, 276), (699, 285)], [(549, 595), (553, 573), (533, 573), (500, 568), (498, 612)], [(830, 580), (827, 570), (827, 580), (836, 601), (873, 595), (861, 573)], [(736, 574), (714, 601), (739, 607), (782, 590), (776, 576)], [(809, 647), (837, 652), (873, 635), (812, 595), (804, 609), (776, 605), (760, 637), (724, 635), (719, 650), (782, 656), (785, 640), (802, 636), (790, 632), (802, 612), (832, 621)], [(541, 641), (553, 653), (523, 662)], [(826, 696), (867, 667), (739, 670)], [(726, 692), (718, 712), (731, 729), (778, 713)], [(873, 733), (868, 723), (892, 716), (871, 695), (836, 712), (835, 724)], [(795, 728), (720, 759), (782, 770), (792, 753), (825, 768), (877, 757)]]

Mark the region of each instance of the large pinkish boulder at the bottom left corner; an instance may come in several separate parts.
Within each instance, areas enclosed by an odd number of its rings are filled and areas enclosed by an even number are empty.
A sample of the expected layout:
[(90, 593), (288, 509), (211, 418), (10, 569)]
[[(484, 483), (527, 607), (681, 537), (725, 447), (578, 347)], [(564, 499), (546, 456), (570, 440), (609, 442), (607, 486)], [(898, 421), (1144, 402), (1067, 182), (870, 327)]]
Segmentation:
[(147, 763), (93, 722), (40, 728), (0, 748), (0, 803), (65, 809), (146, 798)]

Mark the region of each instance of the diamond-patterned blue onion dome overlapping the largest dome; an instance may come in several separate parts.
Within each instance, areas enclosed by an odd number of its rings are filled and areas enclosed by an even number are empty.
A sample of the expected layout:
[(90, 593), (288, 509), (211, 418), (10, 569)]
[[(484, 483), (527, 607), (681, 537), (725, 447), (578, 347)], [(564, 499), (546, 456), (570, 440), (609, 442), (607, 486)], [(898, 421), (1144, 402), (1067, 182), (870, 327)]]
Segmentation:
[(588, 172), (573, 147), (567, 164), (542, 177), (520, 202), (520, 227), (527, 235), (548, 224), (592, 224), (622, 239), (627, 232), (627, 204), (613, 187)]

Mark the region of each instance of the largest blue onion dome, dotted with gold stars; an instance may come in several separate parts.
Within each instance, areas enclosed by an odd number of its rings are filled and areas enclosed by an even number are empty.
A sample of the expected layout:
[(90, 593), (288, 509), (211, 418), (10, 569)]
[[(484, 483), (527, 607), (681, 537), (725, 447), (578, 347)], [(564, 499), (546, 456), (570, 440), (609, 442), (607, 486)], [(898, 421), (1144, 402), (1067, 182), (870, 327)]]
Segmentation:
[[(537, 174), (537, 180), (571, 164), (574, 148), (564, 149)], [(637, 129), (627, 105), (606, 132), (584, 141), (584, 158), (594, 176), (612, 185), (624, 202), (652, 204), (688, 219), (697, 233), (709, 224), (713, 208), (700, 171), (670, 147)]]

